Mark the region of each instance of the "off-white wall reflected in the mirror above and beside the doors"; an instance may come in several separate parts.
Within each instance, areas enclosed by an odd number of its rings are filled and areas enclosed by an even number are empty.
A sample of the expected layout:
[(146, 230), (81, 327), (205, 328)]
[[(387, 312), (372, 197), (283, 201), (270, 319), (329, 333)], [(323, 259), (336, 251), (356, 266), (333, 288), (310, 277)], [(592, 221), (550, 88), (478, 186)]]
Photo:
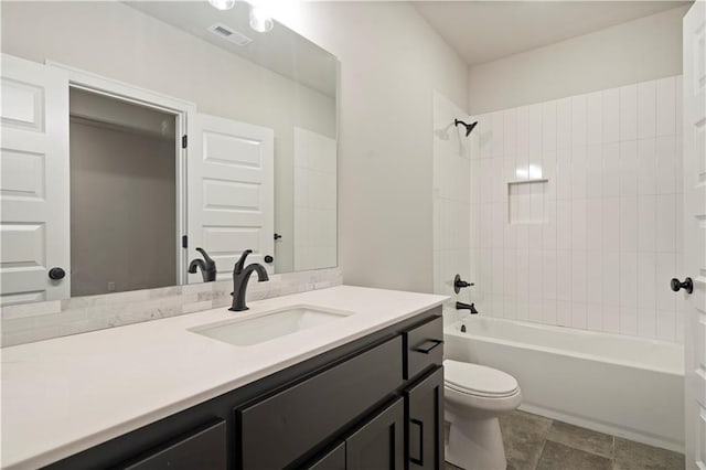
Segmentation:
[[(3, 2), (2, 52), (53, 60), (275, 130), (278, 273), (293, 268), (293, 127), (335, 138), (335, 99), (119, 2)], [(195, 255), (195, 252), (192, 252)]]

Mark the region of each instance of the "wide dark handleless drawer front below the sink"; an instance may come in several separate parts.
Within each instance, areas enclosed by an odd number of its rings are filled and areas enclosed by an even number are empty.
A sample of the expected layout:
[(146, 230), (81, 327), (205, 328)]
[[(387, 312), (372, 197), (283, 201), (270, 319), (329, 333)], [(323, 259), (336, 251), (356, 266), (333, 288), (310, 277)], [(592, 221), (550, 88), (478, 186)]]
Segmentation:
[(403, 383), (396, 337), (252, 406), (236, 410), (244, 470), (284, 468)]

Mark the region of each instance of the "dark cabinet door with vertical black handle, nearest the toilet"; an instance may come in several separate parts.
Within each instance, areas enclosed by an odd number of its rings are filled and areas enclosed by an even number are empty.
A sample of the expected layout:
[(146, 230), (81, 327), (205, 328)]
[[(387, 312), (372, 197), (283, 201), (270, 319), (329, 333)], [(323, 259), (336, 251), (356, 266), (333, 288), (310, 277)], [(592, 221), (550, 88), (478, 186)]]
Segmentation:
[(439, 367), (405, 393), (409, 469), (443, 469), (443, 367)]

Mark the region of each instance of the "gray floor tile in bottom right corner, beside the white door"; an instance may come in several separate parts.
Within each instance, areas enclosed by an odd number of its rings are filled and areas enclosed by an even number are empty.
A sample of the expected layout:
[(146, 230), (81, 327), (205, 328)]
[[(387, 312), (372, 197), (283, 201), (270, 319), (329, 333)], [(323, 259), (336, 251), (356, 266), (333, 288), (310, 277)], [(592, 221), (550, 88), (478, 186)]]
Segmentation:
[(616, 438), (614, 470), (682, 470), (684, 455)]

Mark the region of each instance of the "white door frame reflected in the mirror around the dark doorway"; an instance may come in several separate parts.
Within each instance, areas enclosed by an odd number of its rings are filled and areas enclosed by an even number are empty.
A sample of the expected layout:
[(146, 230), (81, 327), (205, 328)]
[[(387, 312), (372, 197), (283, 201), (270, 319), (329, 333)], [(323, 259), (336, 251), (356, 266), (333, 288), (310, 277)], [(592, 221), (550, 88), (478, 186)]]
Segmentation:
[(83, 89), (174, 116), (174, 154), (176, 156), (176, 207), (174, 207), (176, 217), (176, 233), (174, 234), (176, 246), (176, 285), (182, 286), (188, 284), (189, 278), (186, 269), (189, 265), (189, 249), (182, 246), (182, 236), (186, 236), (189, 233), (189, 186), (186, 184), (186, 158), (189, 154), (189, 146), (183, 148), (182, 137), (189, 136), (189, 125), (195, 121), (196, 105), (184, 99), (174, 98), (147, 88), (130, 85), (125, 82), (101, 76), (93, 72), (83, 71), (60, 62), (47, 60), (45, 61), (45, 65), (60, 68), (68, 73), (69, 88)]

